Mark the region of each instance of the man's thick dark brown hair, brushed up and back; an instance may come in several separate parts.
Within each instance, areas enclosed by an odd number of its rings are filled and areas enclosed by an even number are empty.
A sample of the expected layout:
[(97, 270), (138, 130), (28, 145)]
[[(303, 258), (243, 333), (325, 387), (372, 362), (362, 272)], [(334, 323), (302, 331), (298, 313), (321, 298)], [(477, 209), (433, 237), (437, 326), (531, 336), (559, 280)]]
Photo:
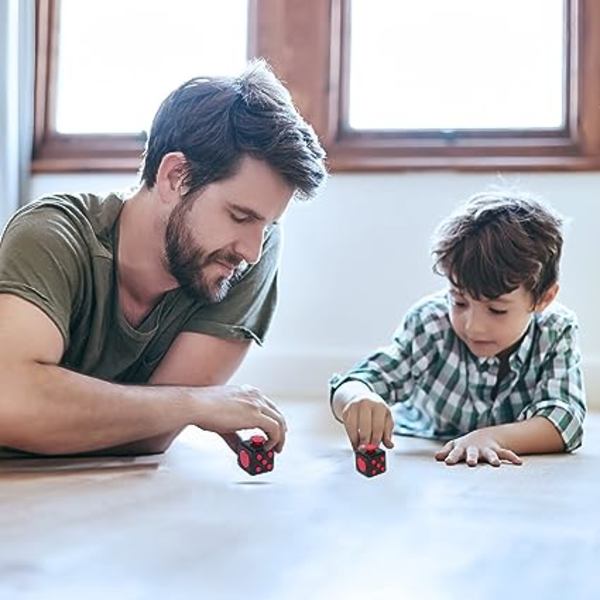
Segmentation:
[(239, 77), (194, 78), (162, 102), (150, 129), (141, 179), (152, 188), (169, 152), (186, 158), (186, 196), (235, 175), (244, 156), (264, 160), (301, 198), (326, 176), (325, 153), (289, 92), (262, 60)]

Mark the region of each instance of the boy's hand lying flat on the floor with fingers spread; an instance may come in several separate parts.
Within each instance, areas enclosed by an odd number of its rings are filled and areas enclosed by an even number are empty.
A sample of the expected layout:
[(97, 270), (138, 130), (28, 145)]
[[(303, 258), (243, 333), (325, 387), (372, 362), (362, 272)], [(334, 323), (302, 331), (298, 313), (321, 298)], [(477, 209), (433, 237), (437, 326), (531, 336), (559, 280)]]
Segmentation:
[(435, 458), (443, 460), (447, 465), (464, 461), (470, 467), (474, 467), (478, 462), (487, 462), (493, 467), (499, 467), (503, 460), (514, 465), (523, 463), (512, 450), (503, 448), (489, 429), (472, 431), (449, 441), (435, 453)]

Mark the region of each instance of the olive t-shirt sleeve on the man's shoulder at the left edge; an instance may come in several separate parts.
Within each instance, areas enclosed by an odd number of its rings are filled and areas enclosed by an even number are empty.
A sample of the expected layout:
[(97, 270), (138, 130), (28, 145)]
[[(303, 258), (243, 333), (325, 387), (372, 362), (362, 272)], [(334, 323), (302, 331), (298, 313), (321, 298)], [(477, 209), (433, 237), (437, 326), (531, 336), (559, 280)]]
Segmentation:
[(65, 348), (83, 276), (79, 238), (65, 213), (42, 206), (17, 213), (0, 242), (0, 293), (14, 294), (45, 312)]

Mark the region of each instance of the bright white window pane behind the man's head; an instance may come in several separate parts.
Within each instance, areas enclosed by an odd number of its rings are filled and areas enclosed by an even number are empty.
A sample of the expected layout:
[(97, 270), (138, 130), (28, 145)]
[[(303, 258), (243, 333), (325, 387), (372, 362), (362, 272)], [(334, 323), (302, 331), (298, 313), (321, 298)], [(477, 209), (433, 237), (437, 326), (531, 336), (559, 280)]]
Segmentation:
[(147, 130), (161, 100), (246, 63), (247, 0), (62, 0), (56, 130)]

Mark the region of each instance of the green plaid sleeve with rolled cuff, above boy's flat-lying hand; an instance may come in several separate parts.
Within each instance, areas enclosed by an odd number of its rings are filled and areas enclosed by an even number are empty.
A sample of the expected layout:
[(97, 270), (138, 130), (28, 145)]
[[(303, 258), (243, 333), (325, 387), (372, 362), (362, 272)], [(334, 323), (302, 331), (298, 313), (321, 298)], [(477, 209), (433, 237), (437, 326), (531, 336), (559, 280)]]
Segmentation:
[(542, 368), (544, 372), (533, 402), (525, 407), (517, 420), (546, 417), (562, 436), (565, 450), (571, 452), (581, 446), (586, 413), (575, 324), (565, 328), (554, 348), (550, 349)]

